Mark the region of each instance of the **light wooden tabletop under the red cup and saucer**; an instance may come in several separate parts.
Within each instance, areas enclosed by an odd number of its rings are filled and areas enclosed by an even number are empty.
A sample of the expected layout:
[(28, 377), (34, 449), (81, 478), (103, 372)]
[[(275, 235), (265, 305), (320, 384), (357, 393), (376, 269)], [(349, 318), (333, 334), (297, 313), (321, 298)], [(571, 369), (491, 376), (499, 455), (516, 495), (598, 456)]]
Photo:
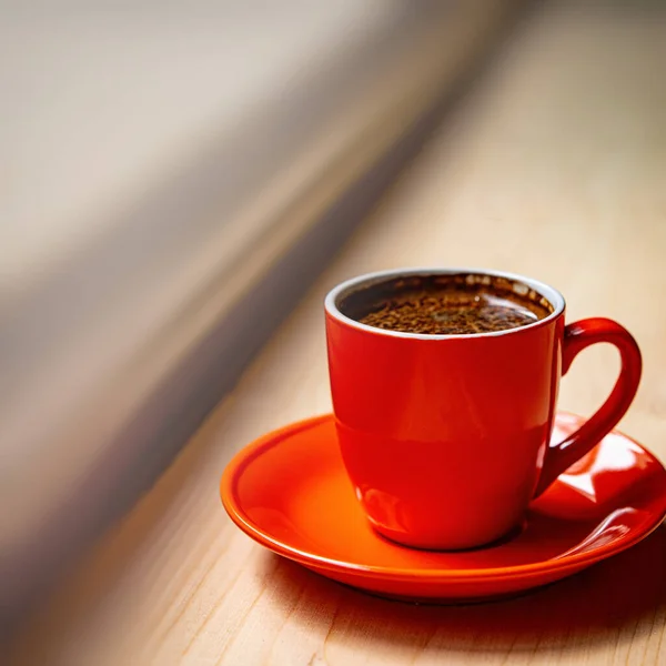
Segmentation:
[[(20, 633), (17, 664), (666, 664), (664, 527), (523, 598), (425, 607), (266, 553), (218, 496), (235, 451), (330, 408), (324, 293), (398, 265), (521, 272), (562, 290), (569, 320), (619, 320), (645, 357), (622, 428), (666, 461), (666, 14), (652, 4), (529, 17), (234, 394)], [(561, 405), (591, 412), (616, 370), (612, 351), (586, 352)]]

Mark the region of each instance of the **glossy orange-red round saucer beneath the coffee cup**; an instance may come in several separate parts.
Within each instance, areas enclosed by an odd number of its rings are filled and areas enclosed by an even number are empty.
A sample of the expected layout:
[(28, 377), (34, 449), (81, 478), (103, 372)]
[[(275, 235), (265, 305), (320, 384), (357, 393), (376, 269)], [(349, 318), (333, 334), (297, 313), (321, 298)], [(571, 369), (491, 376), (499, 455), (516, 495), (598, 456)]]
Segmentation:
[[(557, 414), (553, 437), (582, 421)], [(417, 551), (372, 529), (326, 415), (242, 450), (224, 471), (221, 494), (243, 532), (324, 576), (385, 596), (461, 602), (544, 585), (638, 543), (666, 515), (666, 471), (612, 433), (532, 505), (521, 531), (474, 551)]]

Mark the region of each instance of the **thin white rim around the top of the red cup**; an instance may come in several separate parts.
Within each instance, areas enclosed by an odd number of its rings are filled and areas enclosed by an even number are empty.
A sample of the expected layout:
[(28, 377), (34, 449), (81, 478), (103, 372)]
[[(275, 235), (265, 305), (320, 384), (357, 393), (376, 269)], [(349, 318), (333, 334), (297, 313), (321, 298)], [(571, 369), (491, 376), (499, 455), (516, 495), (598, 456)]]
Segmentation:
[[(354, 289), (364, 289), (372, 286), (373, 284), (383, 282), (384, 280), (389, 280), (392, 278), (401, 278), (401, 276), (410, 276), (410, 275), (456, 275), (456, 274), (474, 274), (474, 275), (488, 275), (491, 278), (504, 278), (512, 282), (522, 282), (526, 284), (528, 287), (533, 289), (535, 292), (547, 299), (547, 301), (553, 305), (553, 312), (545, 316), (542, 320), (537, 320), (532, 324), (526, 324), (524, 326), (515, 326), (513, 329), (504, 329), (502, 331), (490, 331), (486, 333), (407, 333), (405, 331), (391, 331), (386, 329), (377, 329), (376, 326), (369, 326), (367, 324), (362, 324), (356, 320), (343, 314), (337, 307), (339, 297), (351, 290)], [(519, 275), (518, 273), (509, 273), (507, 271), (495, 271), (491, 269), (474, 269), (474, 268), (411, 268), (411, 269), (391, 269), (387, 271), (375, 271), (373, 273), (364, 273), (362, 275), (356, 275), (355, 278), (351, 278), (350, 280), (345, 280), (341, 282), (336, 286), (334, 286), (324, 299), (324, 309), (326, 314), (331, 317), (337, 320), (339, 322), (351, 326), (352, 329), (357, 329), (359, 331), (363, 331), (365, 333), (373, 333), (375, 335), (385, 335), (387, 337), (403, 337), (406, 340), (423, 340), (423, 341), (438, 341), (438, 340), (473, 340), (480, 337), (501, 337), (503, 335), (513, 335), (516, 333), (523, 333), (526, 331), (531, 331), (533, 329), (537, 329), (538, 326), (547, 325), (553, 320), (556, 320), (565, 309), (565, 300), (562, 293), (559, 293), (555, 287), (546, 284), (545, 282), (541, 282), (539, 280), (534, 280), (533, 278), (527, 278), (525, 275)]]

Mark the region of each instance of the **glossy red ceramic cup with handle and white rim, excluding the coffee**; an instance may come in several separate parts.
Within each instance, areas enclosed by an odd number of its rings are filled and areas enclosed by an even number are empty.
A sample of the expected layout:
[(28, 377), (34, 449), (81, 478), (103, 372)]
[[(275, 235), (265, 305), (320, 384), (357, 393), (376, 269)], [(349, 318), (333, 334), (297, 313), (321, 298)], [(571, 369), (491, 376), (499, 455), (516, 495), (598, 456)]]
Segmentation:
[[(532, 290), (551, 314), (515, 329), (427, 335), (364, 325), (351, 294), (397, 278), (473, 275)], [(369, 291), (370, 290), (370, 291)], [(458, 549), (516, 527), (531, 500), (619, 421), (640, 380), (630, 333), (607, 319), (565, 325), (559, 292), (536, 280), (473, 269), (362, 275), (325, 300), (333, 408), (345, 467), (373, 527), (407, 546)], [(609, 397), (576, 433), (551, 443), (559, 377), (591, 344), (619, 351)]]

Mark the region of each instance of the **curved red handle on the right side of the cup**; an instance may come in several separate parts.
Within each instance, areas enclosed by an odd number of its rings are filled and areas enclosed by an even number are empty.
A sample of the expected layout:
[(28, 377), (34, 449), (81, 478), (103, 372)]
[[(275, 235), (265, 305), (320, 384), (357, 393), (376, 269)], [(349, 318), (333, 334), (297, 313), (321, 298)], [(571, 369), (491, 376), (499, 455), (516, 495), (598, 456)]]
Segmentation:
[(640, 350), (633, 335), (613, 320), (586, 319), (565, 327), (562, 374), (567, 373), (579, 352), (597, 342), (608, 342), (617, 347), (622, 363), (619, 376), (606, 402), (591, 418), (566, 440), (547, 447), (535, 497), (613, 430), (636, 395), (643, 367)]

